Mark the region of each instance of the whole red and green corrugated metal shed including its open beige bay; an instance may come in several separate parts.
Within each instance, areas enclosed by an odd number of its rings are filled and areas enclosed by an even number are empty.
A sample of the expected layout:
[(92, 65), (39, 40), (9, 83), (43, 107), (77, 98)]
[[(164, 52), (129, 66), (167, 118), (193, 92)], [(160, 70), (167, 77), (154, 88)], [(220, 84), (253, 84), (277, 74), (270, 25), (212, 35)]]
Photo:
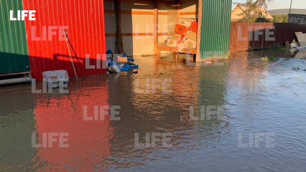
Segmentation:
[[(106, 69), (85, 69), (85, 56), (90, 54), (93, 65), (96, 54), (104, 54), (107, 49), (117, 51), (116, 2), (121, 4), (121, 36), (127, 55), (156, 54), (157, 44), (163, 43), (177, 20), (184, 17), (199, 20), (197, 61), (227, 58), (231, 0), (0, 0), (4, 16), (0, 22), (0, 74), (31, 69), (33, 78), (40, 80), (43, 71), (63, 69), (73, 77), (66, 42), (59, 40), (62, 30), (68, 34), (79, 76), (106, 73)], [(9, 10), (14, 10), (14, 15), (16, 10), (36, 10), (36, 20), (10, 21)]]

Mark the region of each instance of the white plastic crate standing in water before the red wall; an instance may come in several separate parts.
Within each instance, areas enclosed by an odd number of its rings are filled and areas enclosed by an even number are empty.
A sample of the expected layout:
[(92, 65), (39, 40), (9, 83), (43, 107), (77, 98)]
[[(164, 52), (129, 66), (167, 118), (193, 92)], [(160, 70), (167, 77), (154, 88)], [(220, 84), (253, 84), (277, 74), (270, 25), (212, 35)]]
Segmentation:
[(54, 70), (42, 72), (43, 80), (47, 82), (48, 88), (60, 87), (60, 82), (64, 88), (68, 87), (69, 76), (66, 70)]

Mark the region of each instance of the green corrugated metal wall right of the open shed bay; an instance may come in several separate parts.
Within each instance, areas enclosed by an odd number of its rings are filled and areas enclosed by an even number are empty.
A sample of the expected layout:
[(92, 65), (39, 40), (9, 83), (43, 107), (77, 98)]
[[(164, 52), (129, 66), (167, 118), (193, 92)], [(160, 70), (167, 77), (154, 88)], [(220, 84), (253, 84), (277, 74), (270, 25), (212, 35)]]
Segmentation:
[(202, 0), (200, 59), (228, 58), (232, 0)]

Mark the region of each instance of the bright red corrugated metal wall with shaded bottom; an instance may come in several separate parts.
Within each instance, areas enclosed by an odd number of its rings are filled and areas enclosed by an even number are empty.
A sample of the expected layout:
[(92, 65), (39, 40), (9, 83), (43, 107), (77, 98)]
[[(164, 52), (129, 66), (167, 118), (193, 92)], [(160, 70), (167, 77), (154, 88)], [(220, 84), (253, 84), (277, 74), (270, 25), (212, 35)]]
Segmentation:
[[(106, 73), (106, 69), (86, 69), (85, 55), (90, 54), (90, 64), (96, 64), (96, 54), (105, 61), (105, 22), (104, 2), (100, 0), (22, 0), (23, 10), (36, 10), (35, 21), (25, 20), (25, 30), (29, 49), (31, 74), (37, 80), (48, 70), (67, 70), (74, 76), (65, 41), (59, 41), (59, 33), (48, 41), (49, 26), (68, 26), (65, 29), (71, 45), (71, 56), (78, 76)], [(35, 36), (46, 33), (46, 41), (31, 38), (31, 26), (35, 26)], [(46, 29), (44, 29), (44, 27)], [(74, 53), (75, 52), (75, 53)], [(101, 65), (102, 66), (102, 65)]]

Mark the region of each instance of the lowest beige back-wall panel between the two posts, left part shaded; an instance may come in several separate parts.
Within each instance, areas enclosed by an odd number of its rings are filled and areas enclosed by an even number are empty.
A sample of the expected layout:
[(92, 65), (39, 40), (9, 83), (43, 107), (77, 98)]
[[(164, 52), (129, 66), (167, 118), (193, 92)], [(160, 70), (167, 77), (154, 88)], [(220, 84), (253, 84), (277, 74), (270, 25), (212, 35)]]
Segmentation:
[(150, 55), (154, 53), (153, 36), (123, 37), (123, 49), (126, 55)]

